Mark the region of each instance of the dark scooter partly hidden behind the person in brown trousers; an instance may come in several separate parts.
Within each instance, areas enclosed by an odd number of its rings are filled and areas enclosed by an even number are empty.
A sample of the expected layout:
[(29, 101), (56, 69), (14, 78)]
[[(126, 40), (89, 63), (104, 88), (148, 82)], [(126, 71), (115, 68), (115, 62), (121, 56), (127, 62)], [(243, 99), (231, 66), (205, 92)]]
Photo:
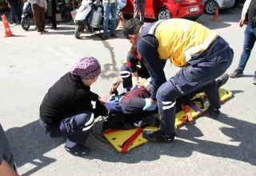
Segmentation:
[(22, 7), (22, 29), (30, 29), (30, 18), (33, 18), (33, 12), (30, 2), (25, 2)]

